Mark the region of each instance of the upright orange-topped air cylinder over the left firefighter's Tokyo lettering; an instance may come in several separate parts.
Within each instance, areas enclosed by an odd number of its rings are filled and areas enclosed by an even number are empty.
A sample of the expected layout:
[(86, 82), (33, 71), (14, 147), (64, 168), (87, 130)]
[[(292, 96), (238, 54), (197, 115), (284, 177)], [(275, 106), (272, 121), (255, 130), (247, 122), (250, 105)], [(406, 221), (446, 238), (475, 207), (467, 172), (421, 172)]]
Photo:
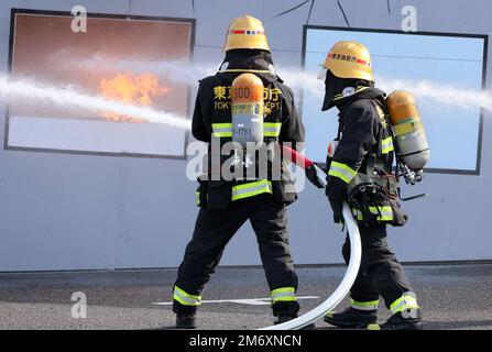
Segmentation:
[(247, 146), (263, 142), (263, 81), (253, 74), (242, 74), (232, 81), (232, 141)]

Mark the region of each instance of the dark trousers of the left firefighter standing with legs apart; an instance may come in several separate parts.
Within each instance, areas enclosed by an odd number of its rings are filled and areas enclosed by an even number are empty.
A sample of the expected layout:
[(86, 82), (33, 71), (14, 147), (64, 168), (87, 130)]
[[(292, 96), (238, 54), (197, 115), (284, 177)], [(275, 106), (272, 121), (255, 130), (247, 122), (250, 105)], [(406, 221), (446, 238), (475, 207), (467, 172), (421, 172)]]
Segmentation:
[(226, 210), (200, 208), (175, 287), (199, 297), (215, 273), (227, 243), (247, 220), (250, 220), (256, 234), (271, 292), (285, 296), (288, 295), (285, 290), (292, 290), (293, 296), (297, 289), (297, 276), (288, 244), (287, 210), (266, 194), (232, 201)]

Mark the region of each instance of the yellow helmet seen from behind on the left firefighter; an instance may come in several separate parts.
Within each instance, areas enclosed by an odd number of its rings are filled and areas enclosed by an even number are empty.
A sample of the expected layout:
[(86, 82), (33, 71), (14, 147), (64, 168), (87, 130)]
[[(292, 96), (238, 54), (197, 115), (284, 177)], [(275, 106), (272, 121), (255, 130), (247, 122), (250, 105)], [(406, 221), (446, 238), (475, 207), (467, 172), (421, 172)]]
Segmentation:
[(263, 23), (248, 14), (232, 20), (227, 30), (223, 51), (233, 48), (261, 48), (270, 52)]

